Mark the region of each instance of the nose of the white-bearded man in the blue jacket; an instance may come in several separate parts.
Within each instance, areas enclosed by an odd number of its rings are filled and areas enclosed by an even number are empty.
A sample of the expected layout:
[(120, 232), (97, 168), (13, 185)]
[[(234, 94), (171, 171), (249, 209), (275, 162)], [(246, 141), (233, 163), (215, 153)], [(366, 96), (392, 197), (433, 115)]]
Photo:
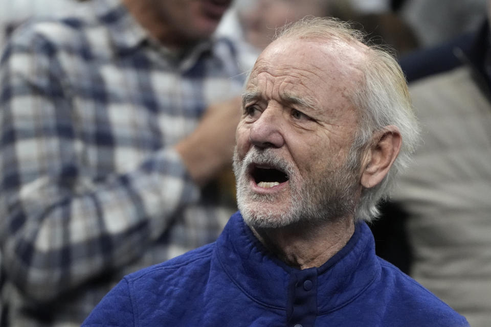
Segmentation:
[(249, 135), (251, 144), (261, 148), (282, 147), (285, 142), (282, 124), (281, 109), (268, 106), (252, 124)]

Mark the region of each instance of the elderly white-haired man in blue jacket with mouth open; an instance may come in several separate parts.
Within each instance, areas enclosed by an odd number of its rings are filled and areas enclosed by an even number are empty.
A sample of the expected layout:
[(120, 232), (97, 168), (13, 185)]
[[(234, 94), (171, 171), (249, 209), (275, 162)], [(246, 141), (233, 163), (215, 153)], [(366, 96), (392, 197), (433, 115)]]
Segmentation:
[(397, 63), (360, 39), (317, 18), (264, 50), (236, 131), (240, 213), (215, 243), (125, 277), (84, 326), (468, 325), (374, 253), (363, 220), (417, 128)]

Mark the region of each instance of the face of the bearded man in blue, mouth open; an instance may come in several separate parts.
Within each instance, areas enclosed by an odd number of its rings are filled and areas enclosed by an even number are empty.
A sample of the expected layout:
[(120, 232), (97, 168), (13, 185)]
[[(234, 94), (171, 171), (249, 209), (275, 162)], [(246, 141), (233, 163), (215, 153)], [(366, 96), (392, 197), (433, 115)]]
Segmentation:
[(348, 92), (361, 72), (348, 66), (360, 59), (348, 48), (282, 39), (258, 58), (234, 155), (237, 202), (249, 225), (280, 227), (353, 213), (359, 174), (346, 157), (358, 115)]

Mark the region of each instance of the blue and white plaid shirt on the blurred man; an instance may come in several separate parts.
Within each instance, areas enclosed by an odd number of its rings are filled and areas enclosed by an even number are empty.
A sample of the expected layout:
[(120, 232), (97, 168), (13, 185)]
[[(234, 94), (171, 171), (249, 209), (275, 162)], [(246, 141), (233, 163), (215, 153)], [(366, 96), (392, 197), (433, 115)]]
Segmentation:
[(3, 325), (79, 325), (123, 275), (215, 240), (235, 204), (198, 189), (173, 146), (242, 82), (230, 43), (169, 51), (117, 0), (14, 34), (0, 62)]

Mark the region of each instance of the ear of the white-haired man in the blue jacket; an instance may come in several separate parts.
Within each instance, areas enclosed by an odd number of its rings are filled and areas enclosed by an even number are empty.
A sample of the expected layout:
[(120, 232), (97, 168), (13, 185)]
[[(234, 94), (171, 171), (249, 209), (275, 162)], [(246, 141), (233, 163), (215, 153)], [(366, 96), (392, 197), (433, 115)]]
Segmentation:
[(367, 189), (384, 179), (399, 154), (401, 145), (399, 129), (392, 125), (375, 132), (372, 140), (363, 156), (360, 180)]

